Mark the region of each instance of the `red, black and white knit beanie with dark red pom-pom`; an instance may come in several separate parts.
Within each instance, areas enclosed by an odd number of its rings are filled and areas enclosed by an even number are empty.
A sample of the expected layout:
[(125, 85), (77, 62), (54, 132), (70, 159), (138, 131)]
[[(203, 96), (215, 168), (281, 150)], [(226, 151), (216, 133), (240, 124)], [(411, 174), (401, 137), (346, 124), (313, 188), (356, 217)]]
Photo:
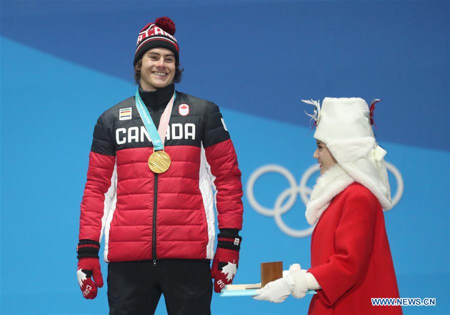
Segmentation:
[(175, 55), (175, 63), (179, 64), (179, 47), (175, 37), (175, 23), (167, 16), (156, 18), (154, 22), (146, 24), (137, 35), (136, 51), (133, 64), (151, 48), (167, 48)]

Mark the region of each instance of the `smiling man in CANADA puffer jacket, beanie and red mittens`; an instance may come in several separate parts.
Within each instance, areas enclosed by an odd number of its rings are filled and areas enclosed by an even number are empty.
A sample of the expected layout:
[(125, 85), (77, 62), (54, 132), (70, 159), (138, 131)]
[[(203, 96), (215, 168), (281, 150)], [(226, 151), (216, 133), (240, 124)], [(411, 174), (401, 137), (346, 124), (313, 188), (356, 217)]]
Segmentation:
[[(218, 106), (174, 90), (181, 78), (174, 32), (168, 17), (145, 25), (133, 62), (139, 96), (156, 127), (174, 97), (164, 143), (170, 167), (149, 169), (154, 148), (135, 97), (103, 112), (93, 132), (77, 277), (83, 296), (94, 298), (103, 285), (98, 251), (104, 233), (110, 314), (152, 313), (161, 294), (170, 314), (210, 313), (212, 286), (219, 292), (231, 283), (238, 264), (236, 153)], [(215, 253), (213, 203), (220, 230)]]

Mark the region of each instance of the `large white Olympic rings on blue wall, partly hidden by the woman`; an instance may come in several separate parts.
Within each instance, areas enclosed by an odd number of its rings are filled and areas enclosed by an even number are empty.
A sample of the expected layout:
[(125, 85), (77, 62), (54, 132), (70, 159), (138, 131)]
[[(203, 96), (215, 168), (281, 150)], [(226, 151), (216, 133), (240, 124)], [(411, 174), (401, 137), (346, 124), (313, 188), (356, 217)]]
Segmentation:
[[(403, 194), (403, 177), (401, 176), (398, 169), (391, 163), (386, 163), (386, 169), (387, 171), (391, 172), (392, 175), (395, 178), (395, 181), (397, 183), (397, 188), (395, 191), (395, 194), (392, 197), (392, 207), (394, 207), (398, 201), (401, 198), (401, 195)], [(281, 215), (289, 211), (292, 206), (294, 205), (295, 201), (297, 200), (297, 195), (300, 196), (301, 201), (304, 205), (309, 200), (309, 196), (312, 192), (312, 188), (308, 187), (307, 181), (308, 179), (315, 173), (320, 170), (318, 164), (314, 164), (310, 167), (308, 167), (303, 175), (300, 178), (300, 181), (297, 185), (297, 182), (292, 175), (292, 173), (287, 170), (285, 167), (277, 165), (277, 164), (267, 164), (263, 165), (253, 171), (251, 173), (250, 177), (247, 181), (247, 189), (246, 189), (246, 195), (248, 202), (250, 203), (251, 207), (258, 212), (259, 214), (265, 215), (265, 216), (273, 216), (273, 219), (275, 220), (275, 224), (279, 227), (279, 229), (284, 232), (285, 234), (292, 236), (292, 237), (306, 237), (312, 233), (312, 230), (314, 229), (314, 226), (310, 226), (305, 229), (294, 229), (290, 226), (288, 226), (281, 218)], [(281, 191), (280, 194), (278, 194), (278, 197), (275, 199), (275, 202), (273, 204), (273, 208), (267, 208), (262, 206), (258, 201), (256, 201), (256, 198), (254, 196), (254, 184), (256, 180), (265, 173), (275, 172), (278, 174), (283, 175), (288, 183), (289, 187)], [(287, 201), (285, 201), (287, 199)], [(284, 204), (283, 204), (284, 203)], [(302, 211), (305, 209), (303, 208)]]

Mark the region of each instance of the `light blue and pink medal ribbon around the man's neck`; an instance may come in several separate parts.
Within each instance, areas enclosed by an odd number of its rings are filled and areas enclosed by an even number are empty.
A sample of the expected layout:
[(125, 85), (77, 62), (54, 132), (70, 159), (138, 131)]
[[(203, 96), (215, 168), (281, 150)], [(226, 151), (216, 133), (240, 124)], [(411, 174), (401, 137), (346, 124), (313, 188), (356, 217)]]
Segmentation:
[(161, 115), (161, 120), (159, 121), (158, 129), (156, 130), (150, 113), (148, 112), (147, 107), (145, 107), (142, 99), (140, 98), (139, 89), (136, 90), (135, 99), (137, 111), (139, 112), (140, 119), (142, 119), (145, 129), (150, 136), (155, 151), (164, 149), (165, 133), (167, 132), (168, 121), (170, 119), (170, 113), (172, 112), (172, 106), (175, 97), (176, 92), (173, 92), (173, 95), (167, 103), (167, 106), (165, 106), (164, 112)]

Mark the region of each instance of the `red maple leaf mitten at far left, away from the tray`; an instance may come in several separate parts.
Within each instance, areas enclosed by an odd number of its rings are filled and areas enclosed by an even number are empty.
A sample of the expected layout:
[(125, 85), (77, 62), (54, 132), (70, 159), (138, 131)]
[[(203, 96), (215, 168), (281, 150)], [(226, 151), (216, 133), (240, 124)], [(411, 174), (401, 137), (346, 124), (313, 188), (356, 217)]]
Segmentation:
[[(97, 287), (103, 286), (103, 277), (98, 260), (100, 244), (93, 240), (80, 240), (76, 246), (78, 252), (78, 267), (76, 277), (84, 298), (93, 299), (97, 296)], [(96, 256), (96, 257), (95, 257)], [(93, 281), (90, 277), (93, 277)]]

